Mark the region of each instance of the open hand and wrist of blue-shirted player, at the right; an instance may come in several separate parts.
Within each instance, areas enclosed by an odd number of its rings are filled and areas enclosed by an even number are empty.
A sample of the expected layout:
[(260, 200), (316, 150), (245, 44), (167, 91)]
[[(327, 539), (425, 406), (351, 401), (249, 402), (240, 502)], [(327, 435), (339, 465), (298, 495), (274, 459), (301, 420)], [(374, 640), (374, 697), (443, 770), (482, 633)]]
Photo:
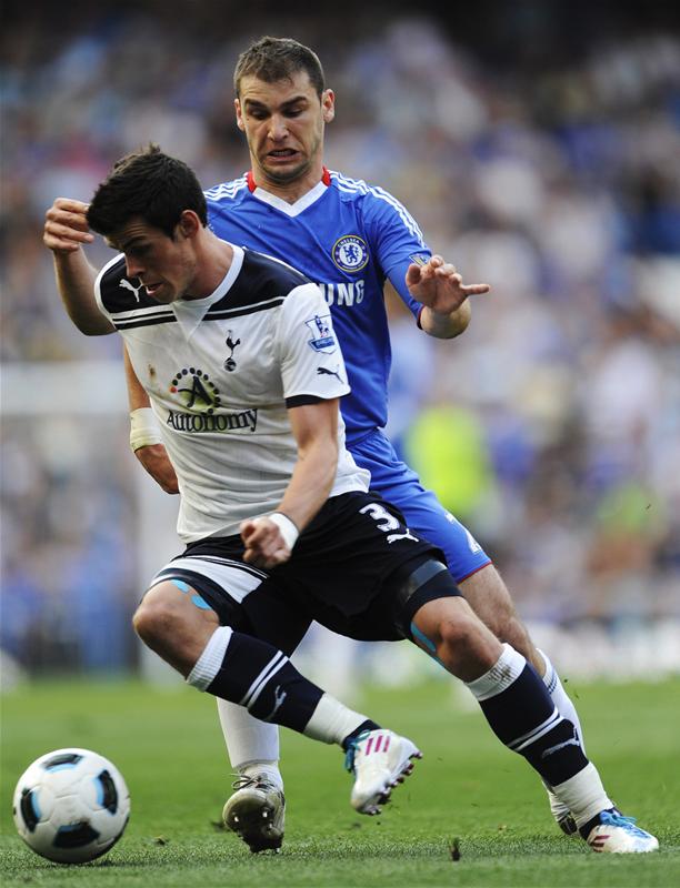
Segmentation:
[(410, 294), (424, 306), (420, 325), (431, 336), (451, 339), (470, 323), (468, 297), (488, 293), (489, 284), (463, 284), (456, 265), (433, 255), (423, 265), (409, 265), (406, 283)]

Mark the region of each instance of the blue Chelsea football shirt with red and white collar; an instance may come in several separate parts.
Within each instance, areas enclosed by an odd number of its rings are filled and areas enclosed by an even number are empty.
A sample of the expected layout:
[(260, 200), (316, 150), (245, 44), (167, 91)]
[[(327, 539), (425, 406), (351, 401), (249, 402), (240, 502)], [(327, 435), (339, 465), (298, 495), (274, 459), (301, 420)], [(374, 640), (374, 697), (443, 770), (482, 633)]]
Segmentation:
[(258, 188), (252, 173), (206, 198), (219, 238), (287, 262), (321, 286), (352, 390), (341, 401), (348, 443), (383, 427), (391, 362), (384, 281), (418, 316), (404, 275), (431, 255), (411, 214), (383, 189), (328, 170), (293, 204)]

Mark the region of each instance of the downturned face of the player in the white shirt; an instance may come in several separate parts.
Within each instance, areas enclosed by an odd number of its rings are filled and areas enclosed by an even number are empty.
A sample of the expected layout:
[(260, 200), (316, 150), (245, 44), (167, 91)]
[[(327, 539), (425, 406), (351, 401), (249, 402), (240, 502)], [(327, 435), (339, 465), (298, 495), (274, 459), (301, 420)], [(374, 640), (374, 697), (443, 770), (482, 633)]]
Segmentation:
[(148, 295), (168, 304), (187, 295), (197, 274), (191, 240), (181, 225), (169, 238), (160, 229), (136, 219), (107, 239), (126, 256), (128, 278), (139, 278)]

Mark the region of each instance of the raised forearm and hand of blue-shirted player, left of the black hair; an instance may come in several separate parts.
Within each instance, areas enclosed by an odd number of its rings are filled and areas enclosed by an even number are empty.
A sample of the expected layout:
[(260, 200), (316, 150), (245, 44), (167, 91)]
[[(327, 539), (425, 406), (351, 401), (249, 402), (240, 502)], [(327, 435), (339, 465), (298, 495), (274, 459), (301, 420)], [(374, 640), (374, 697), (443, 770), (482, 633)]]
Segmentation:
[(81, 333), (101, 336), (113, 325), (94, 300), (97, 270), (88, 262), (83, 245), (92, 243), (87, 220), (88, 204), (57, 198), (46, 213), (42, 242), (52, 251), (57, 289), (67, 314)]

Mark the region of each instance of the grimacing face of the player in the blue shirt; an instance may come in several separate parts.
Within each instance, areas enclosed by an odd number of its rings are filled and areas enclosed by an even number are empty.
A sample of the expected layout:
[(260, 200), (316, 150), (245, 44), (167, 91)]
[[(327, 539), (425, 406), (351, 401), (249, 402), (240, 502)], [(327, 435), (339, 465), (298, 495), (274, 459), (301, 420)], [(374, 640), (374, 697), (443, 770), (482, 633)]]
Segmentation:
[(307, 71), (267, 83), (254, 75), (241, 79), (236, 100), (237, 122), (246, 133), (258, 184), (309, 188), (321, 179), (323, 127), (334, 115), (334, 95), (319, 100)]

